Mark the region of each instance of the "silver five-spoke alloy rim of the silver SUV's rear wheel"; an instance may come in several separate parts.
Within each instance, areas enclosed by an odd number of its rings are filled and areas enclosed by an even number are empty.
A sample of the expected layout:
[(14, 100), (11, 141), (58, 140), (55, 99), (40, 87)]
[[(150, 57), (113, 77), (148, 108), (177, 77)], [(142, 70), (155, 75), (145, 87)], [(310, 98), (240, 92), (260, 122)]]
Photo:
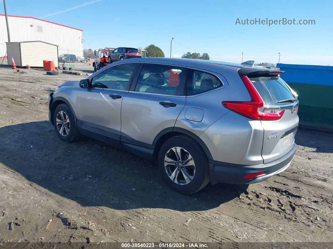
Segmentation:
[(181, 147), (173, 147), (164, 158), (166, 174), (178, 185), (189, 184), (195, 175), (195, 164), (192, 156)]

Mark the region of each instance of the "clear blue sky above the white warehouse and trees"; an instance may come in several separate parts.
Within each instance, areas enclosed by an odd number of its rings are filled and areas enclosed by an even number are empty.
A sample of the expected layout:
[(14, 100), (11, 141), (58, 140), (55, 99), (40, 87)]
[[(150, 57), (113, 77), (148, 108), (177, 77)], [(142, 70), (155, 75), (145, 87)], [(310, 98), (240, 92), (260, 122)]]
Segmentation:
[[(169, 57), (173, 37), (172, 57), (198, 50), (213, 60), (241, 62), (243, 52), (244, 61), (277, 63), (281, 53), (281, 63), (315, 65), (333, 65), (332, 10), (330, 0), (7, 0), (10, 15), (33, 16), (83, 29), (84, 48), (144, 48), (154, 44)], [(4, 13), (2, 1), (0, 13)], [(266, 17), (314, 19), (316, 25), (235, 25), (237, 18)]]

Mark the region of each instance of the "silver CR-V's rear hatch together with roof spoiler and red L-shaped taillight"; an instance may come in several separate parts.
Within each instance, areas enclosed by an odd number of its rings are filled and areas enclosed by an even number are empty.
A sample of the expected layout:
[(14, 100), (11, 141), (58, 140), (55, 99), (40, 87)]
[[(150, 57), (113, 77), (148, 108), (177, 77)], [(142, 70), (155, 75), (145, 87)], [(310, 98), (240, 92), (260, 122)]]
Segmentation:
[(222, 101), (224, 107), (249, 119), (260, 120), (264, 134), (261, 156), (269, 163), (294, 146), (298, 126), (297, 94), (280, 78), (281, 71), (243, 67), (238, 70), (251, 101)]

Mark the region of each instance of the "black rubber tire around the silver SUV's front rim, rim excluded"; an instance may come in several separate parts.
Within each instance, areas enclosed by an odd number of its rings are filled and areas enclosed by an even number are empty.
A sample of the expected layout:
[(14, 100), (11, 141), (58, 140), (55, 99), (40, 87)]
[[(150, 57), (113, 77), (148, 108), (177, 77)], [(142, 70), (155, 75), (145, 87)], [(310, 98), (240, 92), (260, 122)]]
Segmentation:
[[(69, 133), (66, 136), (60, 134), (57, 126), (57, 115), (60, 111), (65, 112), (69, 118)], [(58, 137), (64, 142), (73, 142), (80, 138), (79, 129), (77, 123), (75, 122), (74, 115), (67, 104), (58, 105), (53, 114), (53, 124)]]

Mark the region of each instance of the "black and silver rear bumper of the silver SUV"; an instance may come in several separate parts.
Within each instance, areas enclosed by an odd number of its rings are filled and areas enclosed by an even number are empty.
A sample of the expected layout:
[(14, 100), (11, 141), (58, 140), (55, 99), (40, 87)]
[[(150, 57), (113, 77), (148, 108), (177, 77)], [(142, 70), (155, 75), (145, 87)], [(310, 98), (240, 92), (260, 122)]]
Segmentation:
[[(289, 167), (291, 160), (294, 158), (296, 148), (297, 145), (294, 144), (292, 149), (286, 155), (266, 164), (239, 165), (209, 160), (211, 184), (252, 184), (265, 181)], [(242, 179), (242, 177), (247, 174), (258, 172), (265, 173), (262, 176), (252, 179)]]

